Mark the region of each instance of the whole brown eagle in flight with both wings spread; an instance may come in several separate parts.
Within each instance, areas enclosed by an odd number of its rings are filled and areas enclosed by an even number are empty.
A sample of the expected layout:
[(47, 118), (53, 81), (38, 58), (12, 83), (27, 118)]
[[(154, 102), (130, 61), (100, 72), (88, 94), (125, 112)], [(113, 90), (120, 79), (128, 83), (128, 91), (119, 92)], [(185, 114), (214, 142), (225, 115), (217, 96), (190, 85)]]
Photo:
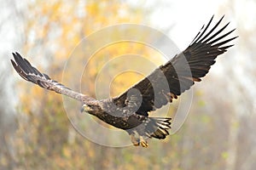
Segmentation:
[[(26, 81), (79, 100), (83, 104), (82, 111), (98, 117), (113, 127), (124, 129), (131, 136), (132, 144), (147, 147), (148, 138), (165, 139), (169, 134), (167, 130), (171, 128), (170, 117), (150, 117), (148, 112), (171, 103), (195, 82), (200, 82), (215, 63), (217, 56), (224, 54), (233, 46), (227, 43), (236, 37), (226, 40), (224, 37), (229, 36), (236, 29), (222, 33), (230, 24), (229, 22), (218, 28), (223, 18), (224, 16), (212, 29), (209, 29), (212, 16), (207, 26), (202, 26), (201, 31), (182, 53), (176, 54), (165, 65), (160, 65), (124, 94), (112, 99), (97, 100), (75, 92), (38, 71), (18, 53), (13, 53), (15, 61), (11, 59), (11, 63), (15, 71)], [(163, 86), (164, 80), (167, 89)]]

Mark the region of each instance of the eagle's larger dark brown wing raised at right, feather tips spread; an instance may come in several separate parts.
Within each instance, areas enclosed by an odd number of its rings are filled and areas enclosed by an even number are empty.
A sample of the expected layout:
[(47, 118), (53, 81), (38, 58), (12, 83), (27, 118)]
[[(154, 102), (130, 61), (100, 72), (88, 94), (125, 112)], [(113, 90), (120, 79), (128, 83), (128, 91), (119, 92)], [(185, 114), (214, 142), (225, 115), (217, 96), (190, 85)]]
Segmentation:
[[(207, 26), (201, 28), (201, 31), (196, 35), (182, 53), (177, 54), (168, 61), (165, 65), (154, 70), (148, 77), (145, 77), (141, 82), (138, 82), (130, 89), (137, 89), (141, 94), (128, 95), (128, 89), (119, 97), (113, 98), (113, 103), (119, 107), (128, 105), (129, 100), (132, 103), (139, 103), (137, 114), (148, 116), (148, 111), (159, 109), (172, 99), (177, 99), (177, 96), (188, 90), (194, 82), (200, 82), (201, 77), (205, 77), (211, 65), (215, 63), (215, 59), (219, 54), (223, 54), (233, 45), (226, 43), (234, 40), (236, 37), (223, 40), (224, 37), (230, 35), (234, 30), (228, 31), (223, 35), (221, 32), (230, 24), (226, 24), (220, 29), (217, 29), (224, 16), (218, 23), (208, 31), (212, 23), (212, 19)], [(164, 83), (166, 82), (166, 84)], [(167, 85), (167, 88), (166, 88)]]

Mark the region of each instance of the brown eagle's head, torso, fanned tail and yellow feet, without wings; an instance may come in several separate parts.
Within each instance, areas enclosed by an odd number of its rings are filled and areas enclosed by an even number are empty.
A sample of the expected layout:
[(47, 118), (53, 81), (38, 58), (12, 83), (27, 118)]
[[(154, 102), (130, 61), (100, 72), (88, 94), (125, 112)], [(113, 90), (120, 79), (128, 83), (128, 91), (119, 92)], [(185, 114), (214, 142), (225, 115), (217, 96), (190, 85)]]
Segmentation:
[[(133, 109), (117, 107), (113, 99), (94, 100), (90, 104), (84, 104), (83, 111), (98, 117), (113, 127), (121, 128), (130, 135), (133, 135), (132, 143), (135, 145), (144, 144), (146, 138), (165, 139), (168, 135), (167, 129), (171, 128), (171, 118), (148, 117), (138, 115)], [(138, 139), (135, 135), (143, 136)]]

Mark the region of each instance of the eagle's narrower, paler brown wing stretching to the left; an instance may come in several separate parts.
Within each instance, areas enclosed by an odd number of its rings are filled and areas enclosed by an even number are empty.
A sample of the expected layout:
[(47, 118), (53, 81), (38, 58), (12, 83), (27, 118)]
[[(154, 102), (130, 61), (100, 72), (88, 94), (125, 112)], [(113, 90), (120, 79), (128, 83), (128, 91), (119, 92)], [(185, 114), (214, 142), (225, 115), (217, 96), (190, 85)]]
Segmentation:
[(70, 88), (65, 87), (60, 82), (51, 80), (48, 75), (38, 71), (38, 69), (33, 67), (26, 59), (22, 58), (20, 54), (13, 53), (13, 55), (15, 61), (11, 59), (11, 62), (15, 68), (15, 71), (17, 71), (20, 77), (24, 78), (26, 81), (33, 82), (35, 84), (38, 84), (38, 86), (42, 88), (55, 91), (58, 94), (67, 95), (68, 97), (77, 99), (81, 102), (86, 102), (92, 99), (87, 95), (80, 94)]

